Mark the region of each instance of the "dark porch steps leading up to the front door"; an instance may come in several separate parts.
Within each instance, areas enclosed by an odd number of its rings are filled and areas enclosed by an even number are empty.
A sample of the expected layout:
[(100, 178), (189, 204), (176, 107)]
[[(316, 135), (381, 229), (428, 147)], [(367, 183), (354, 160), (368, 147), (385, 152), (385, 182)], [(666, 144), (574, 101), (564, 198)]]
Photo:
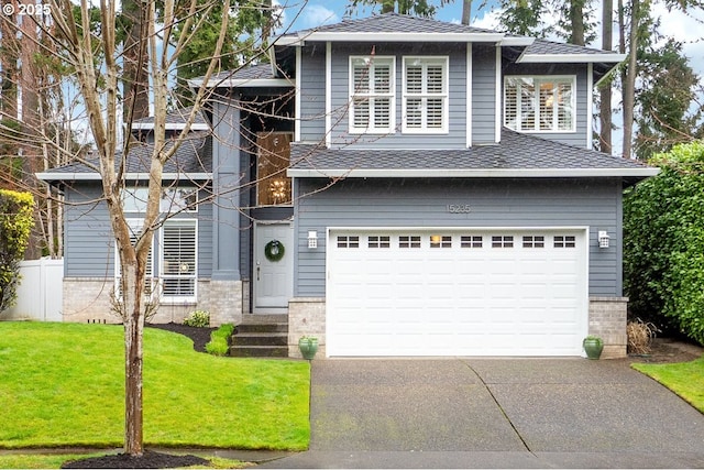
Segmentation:
[(288, 316), (246, 315), (234, 328), (230, 356), (238, 358), (287, 358)]

